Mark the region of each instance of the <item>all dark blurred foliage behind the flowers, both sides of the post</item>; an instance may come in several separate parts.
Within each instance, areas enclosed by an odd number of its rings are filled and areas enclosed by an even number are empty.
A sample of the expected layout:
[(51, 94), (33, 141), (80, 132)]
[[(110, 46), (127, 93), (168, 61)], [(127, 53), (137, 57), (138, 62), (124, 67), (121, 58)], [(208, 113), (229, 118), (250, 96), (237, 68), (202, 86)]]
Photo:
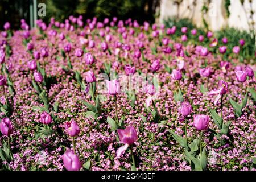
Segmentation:
[[(0, 0), (0, 29), (5, 22), (10, 22), (12, 28), (19, 28), (20, 19), (26, 19), (29, 23), (30, 0)], [(104, 18), (137, 19), (153, 23), (155, 10), (160, 0), (38, 0), (46, 3), (45, 22), (51, 17), (64, 21), (69, 15), (82, 15), (84, 20), (96, 16), (99, 20)], [(39, 18), (39, 17), (38, 17)]]

